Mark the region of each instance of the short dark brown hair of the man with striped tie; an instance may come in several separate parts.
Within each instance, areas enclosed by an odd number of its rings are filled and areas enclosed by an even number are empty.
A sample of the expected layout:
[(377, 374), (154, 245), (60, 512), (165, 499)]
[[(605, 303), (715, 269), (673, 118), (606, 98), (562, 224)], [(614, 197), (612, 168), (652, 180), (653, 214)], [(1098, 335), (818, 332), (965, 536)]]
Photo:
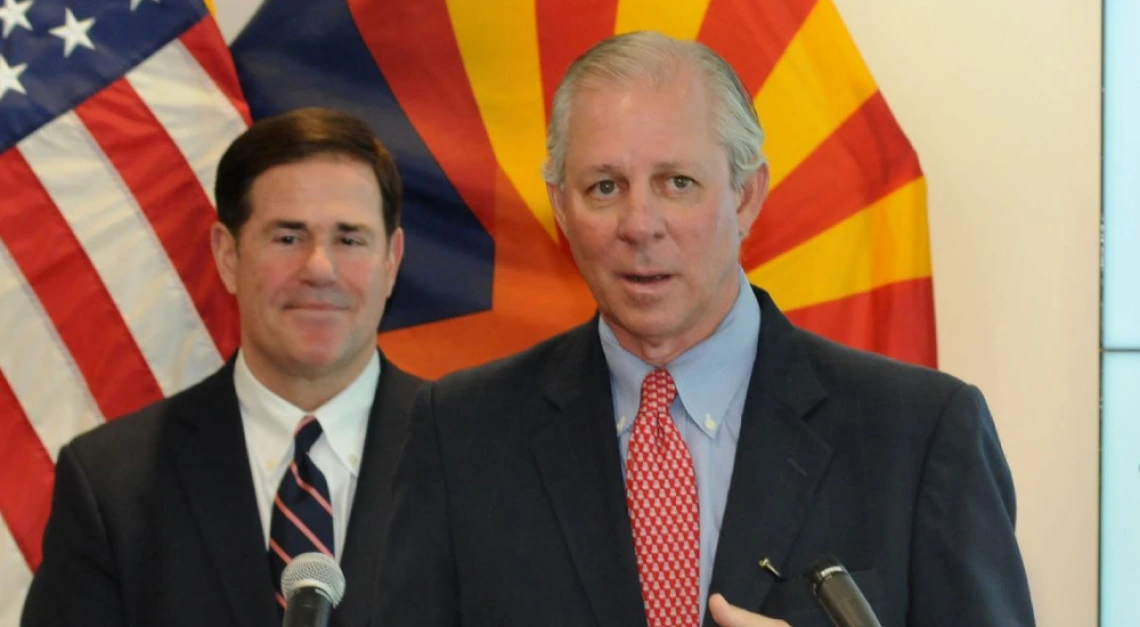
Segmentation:
[(336, 155), (372, 166), (383, 199), (384, 231), (400, 226), (404, 186), (392, 155), (363, 120), (327, 108), (301, 108), (259, 120), (221, 156), (214, 197), (218, 220), (235, 236), (250, 219), (250, 188), (267, 170)]

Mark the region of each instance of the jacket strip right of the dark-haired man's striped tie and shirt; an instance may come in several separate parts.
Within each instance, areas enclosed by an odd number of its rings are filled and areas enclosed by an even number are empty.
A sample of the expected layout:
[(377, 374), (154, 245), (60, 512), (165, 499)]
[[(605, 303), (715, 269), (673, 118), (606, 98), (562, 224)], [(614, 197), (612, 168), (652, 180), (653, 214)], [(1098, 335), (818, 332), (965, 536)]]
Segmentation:
[(412, 401), (420, 382), (381, 356), (380, 382), (368, 416), (364, 456), (341, 569), (349, 585), (344, 598), (333, 612), (334, 627), (364, 627), (372, 610), (373, 581), (383, 547), (396, 462), (407, 434)]

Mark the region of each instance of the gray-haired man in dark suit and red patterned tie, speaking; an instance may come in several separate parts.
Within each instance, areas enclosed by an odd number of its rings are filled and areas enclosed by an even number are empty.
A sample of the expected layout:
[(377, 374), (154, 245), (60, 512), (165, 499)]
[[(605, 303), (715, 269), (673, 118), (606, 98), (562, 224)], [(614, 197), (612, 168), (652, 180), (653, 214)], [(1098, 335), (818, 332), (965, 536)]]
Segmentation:
[(420, 394), (375, 625), (820, 627), (776, 571), (829, 554), (883, 626), (1033, 624), (977, 389), (748, 285), (762, 141), (702, 44), (633, 33), (570, 67), (545, 174), (600, 316)]

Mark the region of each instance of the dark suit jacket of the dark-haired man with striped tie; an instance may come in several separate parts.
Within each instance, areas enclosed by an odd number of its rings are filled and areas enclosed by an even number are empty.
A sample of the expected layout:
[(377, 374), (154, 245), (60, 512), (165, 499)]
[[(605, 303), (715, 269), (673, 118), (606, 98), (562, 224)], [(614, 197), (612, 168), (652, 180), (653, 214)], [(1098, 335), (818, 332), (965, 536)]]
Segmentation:
[[(337, 627), (368, 621), (396, 458), (421, 381), (382, 358), (341, 568)], [(279, 625), (234, 360), (59, 451), (23, 627)]]

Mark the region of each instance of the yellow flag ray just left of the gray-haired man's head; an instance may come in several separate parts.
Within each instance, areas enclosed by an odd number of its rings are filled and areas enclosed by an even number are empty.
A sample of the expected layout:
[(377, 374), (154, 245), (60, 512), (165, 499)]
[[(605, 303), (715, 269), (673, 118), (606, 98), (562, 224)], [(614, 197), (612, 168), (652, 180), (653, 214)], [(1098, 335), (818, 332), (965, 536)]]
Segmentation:
[(535, 3), (448, 0), (464, 70), (499, 166), (552, 239), (554, 213), (543, 182), (546, 113), (535, 36)]

